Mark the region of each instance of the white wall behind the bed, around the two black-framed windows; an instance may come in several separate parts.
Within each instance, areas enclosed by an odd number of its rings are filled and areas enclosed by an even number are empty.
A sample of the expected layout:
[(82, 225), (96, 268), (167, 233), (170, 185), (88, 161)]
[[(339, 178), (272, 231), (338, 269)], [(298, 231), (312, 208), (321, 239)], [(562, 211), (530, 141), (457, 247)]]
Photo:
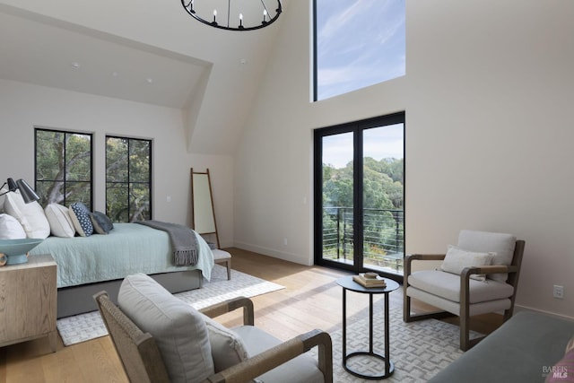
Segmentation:
[(0, 80), (0, 181), (24, 178), (33, 185), (34, 126), (93, 133), (94, 209), (105, 212), (105, 136), (152, 139), (153, 218), (189, 224), (189, 170), (209, 168), (220, 241), (231, 246), (231, 158), (187, 153), (182, 118), (179, 109)]

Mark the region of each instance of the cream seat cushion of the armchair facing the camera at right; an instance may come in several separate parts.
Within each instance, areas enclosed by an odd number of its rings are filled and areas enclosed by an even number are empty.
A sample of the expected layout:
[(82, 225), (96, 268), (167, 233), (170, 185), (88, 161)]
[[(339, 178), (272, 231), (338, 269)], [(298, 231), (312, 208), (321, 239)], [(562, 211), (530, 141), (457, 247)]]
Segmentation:
[[(408, 283), (413, 287), (437, 295), (446, 300), (460, 302), (460, 276), (439, 270), (422, 270), (409, 275)], [(492, 280), (469, 281), (469, 302), (471, 304), (509, 298), (514, 288), (508, 283)]]

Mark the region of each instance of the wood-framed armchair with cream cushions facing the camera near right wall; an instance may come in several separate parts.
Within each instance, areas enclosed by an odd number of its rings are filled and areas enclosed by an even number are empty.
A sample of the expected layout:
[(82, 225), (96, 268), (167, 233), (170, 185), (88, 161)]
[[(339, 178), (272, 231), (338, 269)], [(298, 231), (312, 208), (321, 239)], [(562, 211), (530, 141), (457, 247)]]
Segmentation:
[[(470, 317), (504, 312), (512, 316), (525, 241), (511, 234), (460, 231), (456, 247), (447, 254), (413, 254), (404, 260), (404, 321), (456, 315), (460, 322), (460, 348), (468, 350), (483, 337), (469, 339)], [(413, 261), (442, 261), (435, 270), (412, 272)], [(411, 299), (441, 309), (411, 312)]]

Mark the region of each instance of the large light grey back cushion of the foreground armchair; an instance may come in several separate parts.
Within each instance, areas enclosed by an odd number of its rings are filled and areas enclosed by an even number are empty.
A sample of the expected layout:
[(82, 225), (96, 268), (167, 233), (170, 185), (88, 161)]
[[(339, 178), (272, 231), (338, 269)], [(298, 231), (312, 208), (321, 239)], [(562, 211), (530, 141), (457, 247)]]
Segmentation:
[(211, 345), (202, 315), (145, 274), (129, 275), (118, 306), (160, 349), (172, 382), (201, 382), (213, 374)]

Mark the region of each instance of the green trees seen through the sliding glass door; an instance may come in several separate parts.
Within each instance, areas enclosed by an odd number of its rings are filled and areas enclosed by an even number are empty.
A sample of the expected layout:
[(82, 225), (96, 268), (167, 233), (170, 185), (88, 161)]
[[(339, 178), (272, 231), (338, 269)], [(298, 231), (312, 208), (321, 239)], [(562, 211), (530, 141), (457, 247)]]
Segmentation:
[[(404, 161), (363, 161), (363, 255), (400, 253), (404, 237)], [(323, 165), (323, 243), (325, 257), (352, 259), (353, 163)], [(335, 256), (336, 254), (336, 256)]]

